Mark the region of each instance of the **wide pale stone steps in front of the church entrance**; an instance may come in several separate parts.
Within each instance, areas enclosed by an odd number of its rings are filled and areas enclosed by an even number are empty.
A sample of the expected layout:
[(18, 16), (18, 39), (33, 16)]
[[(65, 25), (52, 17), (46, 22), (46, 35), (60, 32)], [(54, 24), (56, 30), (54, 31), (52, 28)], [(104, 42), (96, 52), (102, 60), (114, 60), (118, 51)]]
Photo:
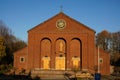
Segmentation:
[[(74, 78), (75, 73), (73, 71), (56, 71), (56, 70), (34, 70), (32, 71), (32, 77), (39, 76), (42, 79), (62, 79), (69, 80), (69, 78)], [(93, 78), (90, 73), (82, 73), (81, 71), (76, 73), (77, 77), (81, 78)]]

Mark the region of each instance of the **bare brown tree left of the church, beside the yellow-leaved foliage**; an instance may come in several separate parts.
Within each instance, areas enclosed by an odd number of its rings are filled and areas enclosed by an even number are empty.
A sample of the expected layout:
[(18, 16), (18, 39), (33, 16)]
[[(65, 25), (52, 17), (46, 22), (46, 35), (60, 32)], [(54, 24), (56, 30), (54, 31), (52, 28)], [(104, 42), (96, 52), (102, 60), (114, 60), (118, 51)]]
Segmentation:
[(18, 38), (16, 38), (12, 31), (0, 20), (0, 36), (4, 39), (4, 45), (6, 46), (6, 56), (2, 61), (4, 64), (13, 63), (13, 53), (20, 48), (26, 46), (26, 43)]

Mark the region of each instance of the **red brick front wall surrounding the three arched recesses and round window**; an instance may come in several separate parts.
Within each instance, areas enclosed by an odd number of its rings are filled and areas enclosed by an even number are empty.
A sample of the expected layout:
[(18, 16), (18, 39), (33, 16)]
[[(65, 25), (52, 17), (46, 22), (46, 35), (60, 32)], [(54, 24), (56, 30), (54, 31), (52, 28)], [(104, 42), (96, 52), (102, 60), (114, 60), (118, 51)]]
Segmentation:
[[(56, 21), (58, 19), (64, 19), (66, 21), (66, 27), (64, 29), (58, 29), (56, 27)], [(82, 56), (82, 69), (94, 67), (94, 36), (95, 32), (83, 24), (74, 21), (73, 19), (65, 16), (64, 14), (59, 14), (54, 18), (36, 26), (35, 28), (28, 31), (28, 67), (41, 68), (41, 58), (44, 53), (41, 51), (41, 40), (47, 38), (51, 41), (51, 68), (55, 68), (55, 56), (56, 56), (56, 41), (61, 38), (66, 41), (66, 68), (70, 69), (72, 67), (71, 57)], [(70, 45), (73, 39), (80, 40), (81, 52), (76, 52), (74, 55), (71, 53)], [(76, 44), (75, 44), (76, 45)], [(47, 50), (47, 49), (45, 49)], [(71, 57), (70, 57), (71, 55)]]

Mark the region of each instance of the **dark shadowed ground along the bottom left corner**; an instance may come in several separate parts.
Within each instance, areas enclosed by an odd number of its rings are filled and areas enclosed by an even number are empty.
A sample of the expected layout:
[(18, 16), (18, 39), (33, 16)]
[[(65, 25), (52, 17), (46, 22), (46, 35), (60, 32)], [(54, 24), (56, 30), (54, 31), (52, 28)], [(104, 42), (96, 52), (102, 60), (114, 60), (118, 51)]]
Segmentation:
[(32, 78), (29, 75), (5, 75), (0, 74), (0, 80), (41, 80), (40, 77), (36, 76)]

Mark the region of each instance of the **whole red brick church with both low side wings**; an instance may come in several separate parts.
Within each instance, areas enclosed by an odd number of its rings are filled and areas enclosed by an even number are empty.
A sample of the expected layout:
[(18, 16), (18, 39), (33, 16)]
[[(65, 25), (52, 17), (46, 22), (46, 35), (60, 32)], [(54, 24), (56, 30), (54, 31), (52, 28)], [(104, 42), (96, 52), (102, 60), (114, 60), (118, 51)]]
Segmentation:
[[(63, 12), (28, 30), (28, 46), (14, 53), (14, 68), (87, 70), (97, 65), (95, 31)], [(110, 74), (109, 54), (100, 50), (100, 71)]]

